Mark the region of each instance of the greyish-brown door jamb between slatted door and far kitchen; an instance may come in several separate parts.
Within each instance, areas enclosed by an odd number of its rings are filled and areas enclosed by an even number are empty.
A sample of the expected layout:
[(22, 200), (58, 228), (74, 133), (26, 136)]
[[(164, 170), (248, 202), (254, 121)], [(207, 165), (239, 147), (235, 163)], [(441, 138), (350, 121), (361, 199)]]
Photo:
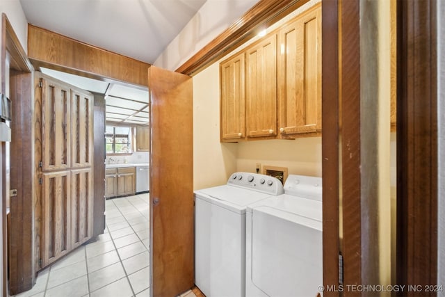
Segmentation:
[(94, 226), (95, 237), (105, 230), (105, 99), (102, 94), (94, 94)]

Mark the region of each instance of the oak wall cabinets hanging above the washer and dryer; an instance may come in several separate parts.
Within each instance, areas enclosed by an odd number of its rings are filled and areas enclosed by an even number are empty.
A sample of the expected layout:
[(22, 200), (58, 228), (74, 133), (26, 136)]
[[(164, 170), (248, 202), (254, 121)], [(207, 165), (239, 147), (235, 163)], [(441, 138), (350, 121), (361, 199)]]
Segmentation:
[(321, 5), (220, 63), (220, 94), (222, 142), (319, 135)]

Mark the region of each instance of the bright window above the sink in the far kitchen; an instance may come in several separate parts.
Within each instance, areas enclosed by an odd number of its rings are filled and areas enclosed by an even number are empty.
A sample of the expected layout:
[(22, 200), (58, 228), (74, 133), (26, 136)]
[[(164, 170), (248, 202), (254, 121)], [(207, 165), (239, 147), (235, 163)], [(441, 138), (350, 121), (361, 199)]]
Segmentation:
[(131, 127), (106, 126), (105, 147), (107, 154), (131, 154)]

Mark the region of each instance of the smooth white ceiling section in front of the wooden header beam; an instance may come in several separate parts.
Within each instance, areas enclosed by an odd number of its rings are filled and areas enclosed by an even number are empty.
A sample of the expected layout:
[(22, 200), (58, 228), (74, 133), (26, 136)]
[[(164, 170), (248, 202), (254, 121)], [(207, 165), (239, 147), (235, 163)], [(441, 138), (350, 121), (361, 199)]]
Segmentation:
[(153, 64), (206, 0), (20, 0), (30, 24)]

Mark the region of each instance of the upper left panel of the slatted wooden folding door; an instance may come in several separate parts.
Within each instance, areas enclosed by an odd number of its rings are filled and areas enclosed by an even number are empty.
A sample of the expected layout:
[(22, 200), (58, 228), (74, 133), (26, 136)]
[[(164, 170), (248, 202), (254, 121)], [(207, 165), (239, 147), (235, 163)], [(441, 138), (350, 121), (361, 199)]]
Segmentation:
[(41, 79), (42, 170), (70, 168), (70, 86)]

